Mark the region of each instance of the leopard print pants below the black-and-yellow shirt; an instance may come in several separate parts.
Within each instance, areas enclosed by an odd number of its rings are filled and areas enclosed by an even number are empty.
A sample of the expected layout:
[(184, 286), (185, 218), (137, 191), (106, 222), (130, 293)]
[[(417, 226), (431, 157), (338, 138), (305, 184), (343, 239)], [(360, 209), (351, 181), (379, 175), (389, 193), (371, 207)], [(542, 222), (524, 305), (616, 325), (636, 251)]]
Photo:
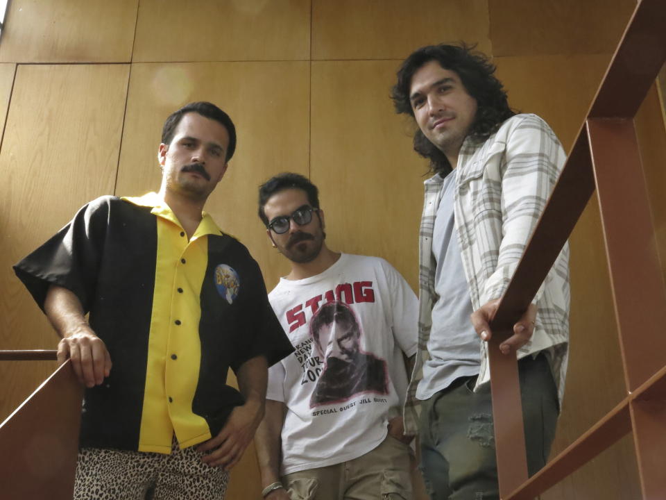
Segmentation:
[(83, 448), (78, 454), (74, 500), (222, 500), (229, 474), (201, 461), (196, 447), (171, 455)]

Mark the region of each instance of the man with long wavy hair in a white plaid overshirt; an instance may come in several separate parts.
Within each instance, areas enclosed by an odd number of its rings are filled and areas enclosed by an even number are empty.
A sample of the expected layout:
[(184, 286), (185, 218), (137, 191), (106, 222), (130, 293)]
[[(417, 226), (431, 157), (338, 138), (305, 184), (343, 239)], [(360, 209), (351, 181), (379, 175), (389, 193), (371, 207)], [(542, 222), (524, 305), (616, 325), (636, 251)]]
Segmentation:
[[(398, 70), (393, 102), (429, 158), (420, 228), (419, 346), (405, 427), (420, 435), (432, 499), (498, 499), (488, 344), (493, 318), (565, 161), (549, 126), (516, 115), (486, 56), (422, 47)], [(500, 344), (518, 356), (529, 473), (543, 467), (563, 395), (568, 247)], [(471, 322), (470, 322), (471, 317)], [(420, 412), (418, 411), (420, 410)]]

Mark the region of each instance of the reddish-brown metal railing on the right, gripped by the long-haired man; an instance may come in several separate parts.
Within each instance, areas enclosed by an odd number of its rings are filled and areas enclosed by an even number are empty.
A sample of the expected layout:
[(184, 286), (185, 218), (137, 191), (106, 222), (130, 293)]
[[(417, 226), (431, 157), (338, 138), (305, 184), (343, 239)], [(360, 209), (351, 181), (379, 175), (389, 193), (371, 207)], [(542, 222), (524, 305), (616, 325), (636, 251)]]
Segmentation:
[[(666, 498), (666, 287), (633, 124), (665, 61), (666, 1), (641, 0), (493, 319), (490, 383), (504, 500), (533, 499), (629, 432), (643, 499)], [(518, 365), (499, 344), (543, 283), (595, 188), (626, 397), (528, 479)]]

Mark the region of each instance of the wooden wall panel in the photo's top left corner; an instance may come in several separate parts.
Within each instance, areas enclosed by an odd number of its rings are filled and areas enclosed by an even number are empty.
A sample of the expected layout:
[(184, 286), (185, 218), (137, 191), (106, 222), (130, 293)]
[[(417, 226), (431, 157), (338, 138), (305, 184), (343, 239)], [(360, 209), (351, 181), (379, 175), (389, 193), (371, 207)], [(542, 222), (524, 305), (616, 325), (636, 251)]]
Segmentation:
[(0, 62), (128, 63), (139, 0), (12, 0)]

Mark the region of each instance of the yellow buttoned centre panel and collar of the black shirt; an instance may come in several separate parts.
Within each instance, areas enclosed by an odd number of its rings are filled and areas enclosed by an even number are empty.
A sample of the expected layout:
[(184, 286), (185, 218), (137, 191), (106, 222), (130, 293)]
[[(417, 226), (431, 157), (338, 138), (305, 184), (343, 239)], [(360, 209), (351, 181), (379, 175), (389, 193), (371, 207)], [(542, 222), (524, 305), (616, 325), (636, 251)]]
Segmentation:
[[(146, 198), (130, 201), (152, 206), (155, 200)], [(205, 419), (192, 412), (192, 401), (201, 360), (198, 328), (207, 235), (221, 231), (203, 214), (188, 242), (163, 201), (151, 211), (157, 215), (157, 256), (139, 451), (170, 453), (173, 433), (181, 448), (211, 437)]]

